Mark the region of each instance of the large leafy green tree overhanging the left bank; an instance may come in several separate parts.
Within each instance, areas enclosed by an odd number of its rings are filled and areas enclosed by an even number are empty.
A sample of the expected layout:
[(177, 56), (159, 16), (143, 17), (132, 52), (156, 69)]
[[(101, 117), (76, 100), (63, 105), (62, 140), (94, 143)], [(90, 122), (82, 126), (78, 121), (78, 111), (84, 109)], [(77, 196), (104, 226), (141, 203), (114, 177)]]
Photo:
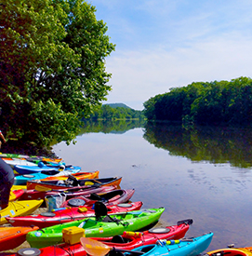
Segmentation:
[(81, 0), (2, 0), (0, 107), (8, 135), (40, 145), (72, 141), (106, 100), (114, 50), (96, 8)]

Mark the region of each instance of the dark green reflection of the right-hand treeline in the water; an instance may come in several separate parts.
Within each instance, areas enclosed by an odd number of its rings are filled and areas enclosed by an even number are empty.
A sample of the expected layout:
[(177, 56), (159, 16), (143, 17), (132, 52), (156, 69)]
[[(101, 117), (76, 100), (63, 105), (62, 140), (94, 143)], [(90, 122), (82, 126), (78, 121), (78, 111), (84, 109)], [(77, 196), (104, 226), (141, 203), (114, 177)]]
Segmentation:
[(187, 130), (181, 126), (148, 123), (143, 138), (169, 151), (170, 155), (182, 155), (192, 161), (230, 163), (238, 168), (252, 166), (251, 129), (202, 127)]

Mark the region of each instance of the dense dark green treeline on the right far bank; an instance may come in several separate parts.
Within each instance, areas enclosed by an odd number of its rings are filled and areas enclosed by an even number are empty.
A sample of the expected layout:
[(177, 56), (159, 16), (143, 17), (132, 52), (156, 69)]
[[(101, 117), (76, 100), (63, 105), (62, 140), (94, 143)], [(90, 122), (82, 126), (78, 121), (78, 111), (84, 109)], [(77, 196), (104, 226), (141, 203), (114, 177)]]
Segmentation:
[(148, 120), (197, 125), (252, 123), (252, 79), (197, 82), (159, 94), (144, 102)]

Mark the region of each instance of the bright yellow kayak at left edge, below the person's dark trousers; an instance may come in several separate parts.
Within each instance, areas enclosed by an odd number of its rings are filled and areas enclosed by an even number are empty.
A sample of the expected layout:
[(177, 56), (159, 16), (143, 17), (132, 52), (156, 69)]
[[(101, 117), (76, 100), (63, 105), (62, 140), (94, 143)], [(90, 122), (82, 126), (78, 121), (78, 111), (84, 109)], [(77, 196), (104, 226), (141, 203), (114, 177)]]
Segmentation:
[(7, 223), (7, 217), (32, 214), (44, 200), (25, 200), (9, 202), (7, 208), (0, 210), (0, 224)]

